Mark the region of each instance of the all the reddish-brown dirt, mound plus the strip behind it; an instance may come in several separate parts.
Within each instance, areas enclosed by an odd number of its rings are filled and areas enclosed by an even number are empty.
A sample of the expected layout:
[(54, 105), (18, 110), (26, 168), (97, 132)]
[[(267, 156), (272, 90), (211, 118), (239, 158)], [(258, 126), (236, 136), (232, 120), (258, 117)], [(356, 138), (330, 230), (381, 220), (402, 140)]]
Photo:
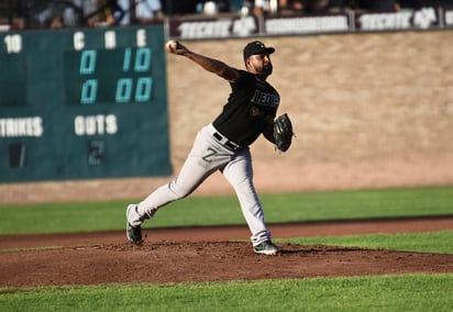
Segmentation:
[[(281, 238), (427, 232), (452, 224), (443, 216), (272, 224), (270, 230)], [(255, 255), (246, 226), (146, 229), (144, 234), (141, 246), (126, 243), (123, 231), (0, 236), (0, 287), (453, 272), (453, 255), (297, 244), (279, 244), (277, 256)], [(25, 247), (37, 249), (11, 249)]]

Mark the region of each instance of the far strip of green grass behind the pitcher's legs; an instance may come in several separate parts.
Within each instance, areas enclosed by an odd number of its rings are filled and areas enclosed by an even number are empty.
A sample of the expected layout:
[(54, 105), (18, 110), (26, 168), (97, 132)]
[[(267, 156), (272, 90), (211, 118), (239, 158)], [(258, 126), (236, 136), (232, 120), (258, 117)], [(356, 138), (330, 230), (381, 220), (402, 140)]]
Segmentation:
[[(263, 194), (268, 223), (453, 215), (453, 187)], [(136, 202), (137, 199), (131, 200)], [(0, 205), (0, 234), (123, 230), (130, 201)], [(144, 227), (244, 224), (234, 196), (189, 197)]]

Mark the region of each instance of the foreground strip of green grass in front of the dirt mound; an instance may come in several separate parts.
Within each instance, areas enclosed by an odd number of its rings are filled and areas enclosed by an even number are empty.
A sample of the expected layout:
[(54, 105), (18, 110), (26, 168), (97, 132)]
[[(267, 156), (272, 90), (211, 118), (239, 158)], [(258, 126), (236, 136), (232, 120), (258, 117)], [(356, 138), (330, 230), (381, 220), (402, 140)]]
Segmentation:
[(453, 275), (0, 289), (2, 311), (450, 312)]

